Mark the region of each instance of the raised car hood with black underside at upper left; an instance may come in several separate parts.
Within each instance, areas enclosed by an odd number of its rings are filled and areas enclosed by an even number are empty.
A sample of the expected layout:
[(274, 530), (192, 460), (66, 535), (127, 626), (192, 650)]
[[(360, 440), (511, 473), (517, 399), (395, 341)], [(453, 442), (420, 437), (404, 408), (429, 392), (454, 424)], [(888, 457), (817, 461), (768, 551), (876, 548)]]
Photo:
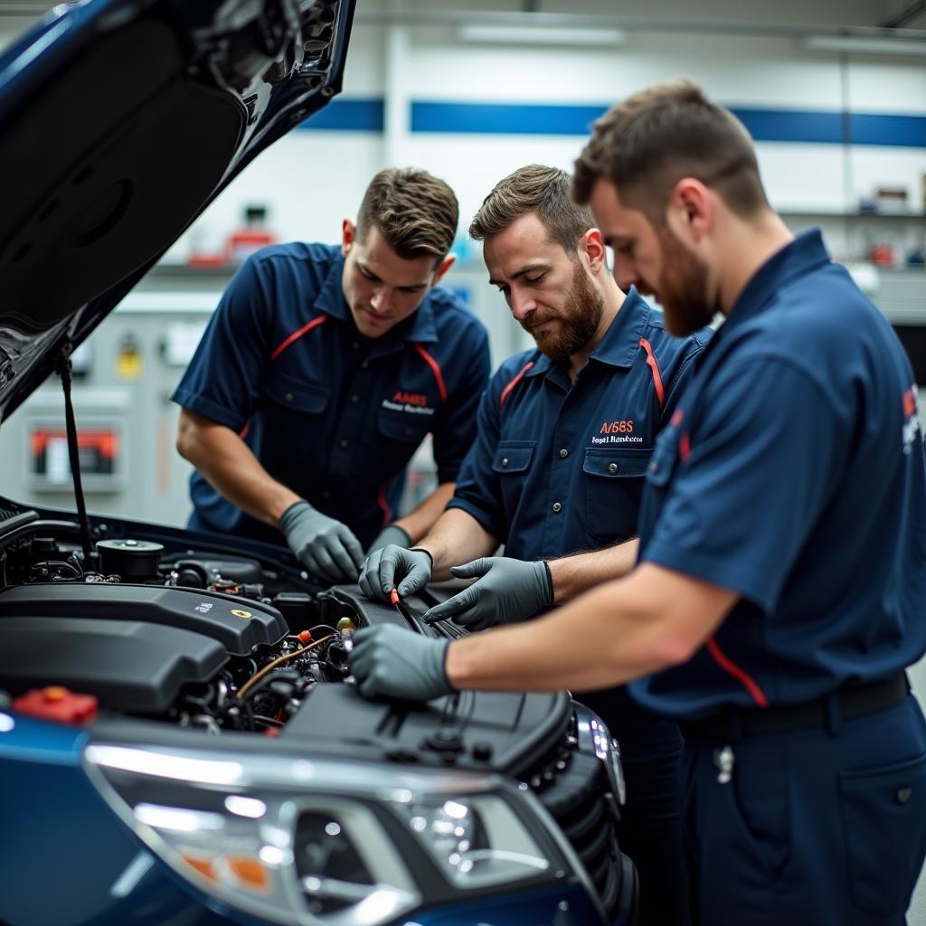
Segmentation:
[(83, 0), (0, 56), (0, 419), (338, 93), (356, 0)]

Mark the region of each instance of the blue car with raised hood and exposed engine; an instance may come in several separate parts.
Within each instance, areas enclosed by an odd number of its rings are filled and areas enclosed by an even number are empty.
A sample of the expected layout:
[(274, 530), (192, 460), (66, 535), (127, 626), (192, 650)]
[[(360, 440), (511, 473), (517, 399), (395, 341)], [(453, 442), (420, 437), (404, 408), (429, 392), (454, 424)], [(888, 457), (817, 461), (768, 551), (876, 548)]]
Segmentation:
[(0, 497), (0, 924), (630, 924), (617, 747), (568, 694), (370, 702), (421, 633), (288, 550), (85, 510), (69, 356), (341, 86), (353, 0), (87, 0), (0, 56), (0, 415), (60, 376), (77, 513)]

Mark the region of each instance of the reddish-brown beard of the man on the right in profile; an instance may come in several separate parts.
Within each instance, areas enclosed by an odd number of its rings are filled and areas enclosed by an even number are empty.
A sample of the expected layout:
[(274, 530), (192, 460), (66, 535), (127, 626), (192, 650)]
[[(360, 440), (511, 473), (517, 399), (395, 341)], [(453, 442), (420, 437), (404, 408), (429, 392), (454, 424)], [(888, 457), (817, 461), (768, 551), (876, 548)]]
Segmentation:
[[(686, 250), (667, 226), (657, 229), (662, 245), (662, 281), (657, 290), (666, 331), (687, 337), (708, 325), (720, 302), (707, 293), (707, 265)], [(652, 287), (647, 287), (652, 292)]]

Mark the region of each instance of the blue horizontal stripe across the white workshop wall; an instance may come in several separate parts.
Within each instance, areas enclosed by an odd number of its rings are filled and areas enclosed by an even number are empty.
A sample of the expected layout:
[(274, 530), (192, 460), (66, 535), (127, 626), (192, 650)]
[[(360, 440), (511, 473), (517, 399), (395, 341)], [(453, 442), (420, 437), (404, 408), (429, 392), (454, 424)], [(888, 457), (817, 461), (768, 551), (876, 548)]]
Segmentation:
[[(446, 103), (415, 100), (411, 131), (471, 135), (587, 135), (607, 106)], [(757, 142), (803, 142), (926, 148), (926, 116), (733, 107)], [(336, 99), (298, 128), (382, 132), (383, 101)]]

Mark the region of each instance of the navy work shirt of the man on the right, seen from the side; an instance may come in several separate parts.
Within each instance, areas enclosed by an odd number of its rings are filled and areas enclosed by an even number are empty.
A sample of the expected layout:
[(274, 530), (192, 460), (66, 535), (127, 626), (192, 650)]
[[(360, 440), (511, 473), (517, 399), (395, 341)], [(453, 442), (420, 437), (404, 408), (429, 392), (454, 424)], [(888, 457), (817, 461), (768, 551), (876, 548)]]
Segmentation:
[(757, 271), (657, 440), (644, 561), (742, 595), (688, 663), (632, 682), (698, 717), (888, 678), (926, 649), (913, 371), (820, 232)]

